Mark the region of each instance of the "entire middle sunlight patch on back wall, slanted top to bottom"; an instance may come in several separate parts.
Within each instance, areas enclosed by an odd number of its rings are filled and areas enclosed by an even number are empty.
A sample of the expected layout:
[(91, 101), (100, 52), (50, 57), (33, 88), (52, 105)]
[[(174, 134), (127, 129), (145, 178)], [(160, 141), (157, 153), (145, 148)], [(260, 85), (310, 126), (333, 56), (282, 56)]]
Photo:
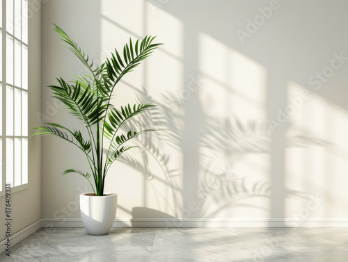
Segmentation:
[(204, 215), (269, 218), (267, 71), (205, 33), (198, 43)]

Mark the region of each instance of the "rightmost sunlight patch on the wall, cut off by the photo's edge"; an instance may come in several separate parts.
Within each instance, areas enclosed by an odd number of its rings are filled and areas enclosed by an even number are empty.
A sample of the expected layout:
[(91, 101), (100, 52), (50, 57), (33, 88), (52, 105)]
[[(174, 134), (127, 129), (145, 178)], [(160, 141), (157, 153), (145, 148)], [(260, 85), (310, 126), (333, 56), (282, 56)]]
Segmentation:
[(348, 205), (347, 111), (293, 82), (288, 84), (288, 97), (295, 110), (287, 114), (285, 186), (300, 197), (287, 197), (286, 215), (302, 210), (308, 197), (319, 195), (323, 202), (309, 218), (347, 217), (347, 208), (342, 208)]

